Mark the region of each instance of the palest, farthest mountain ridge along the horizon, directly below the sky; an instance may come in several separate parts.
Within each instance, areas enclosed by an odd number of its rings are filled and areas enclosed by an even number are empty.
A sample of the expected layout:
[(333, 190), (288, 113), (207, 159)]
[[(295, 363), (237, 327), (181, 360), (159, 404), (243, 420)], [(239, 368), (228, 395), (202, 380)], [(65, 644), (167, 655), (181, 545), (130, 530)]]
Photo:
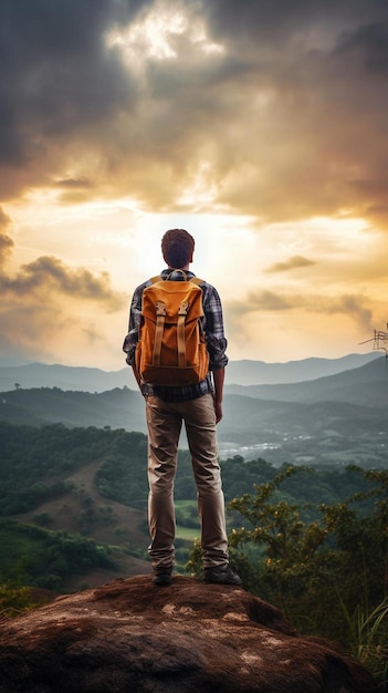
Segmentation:
[[(230, 361), (226, 371), (226, 383), (230, 385), (263, 385), (311, 381), (361, 366), (379, 355), (371, 352), (368, 354), (348, 354), (340, 359), (304, 359), (289, 363)], [(61, 390), (81, 392), (105, 392), (127, 385), (136, 390), (136, 382), (129, 366), (119, 371), (103, 371), (101, 369), (48, 365), (44, 363), (1, 365), (2, 363), (0, 360), (0, 392), (13, 390), (15, 386), (23, 390), (60, 387)]]

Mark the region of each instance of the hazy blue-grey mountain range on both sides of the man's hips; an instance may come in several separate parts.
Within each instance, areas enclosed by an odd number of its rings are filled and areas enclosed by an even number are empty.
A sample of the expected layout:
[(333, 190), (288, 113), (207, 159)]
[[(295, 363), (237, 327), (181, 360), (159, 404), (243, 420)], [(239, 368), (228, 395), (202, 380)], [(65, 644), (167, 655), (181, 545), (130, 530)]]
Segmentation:
[[(342, 363), (349, 365), (352, 360), (345, 358)], [(224, 415), (218, 426), (220, 456), (264, 457), (273, 464), (387, 467), (388, 360), (374, 354), (364, 361), (358, 368), (315, 380), (227, 384)], [(46, 372), (55, 374), (56, 368), (64, 366), (46, 366)], [(92, 373), (81, 370), (88, 379), (94, 374), (93, 369)], [(64, 373), (74, 379), (78, 369)], [(20, 385), (0, 393), (0, 421), (146, 433), (144, 402), (135, 385), (134, 390), (124, 385), (94, 393)], [(181, 444), (186, 446), (185, 436)]]

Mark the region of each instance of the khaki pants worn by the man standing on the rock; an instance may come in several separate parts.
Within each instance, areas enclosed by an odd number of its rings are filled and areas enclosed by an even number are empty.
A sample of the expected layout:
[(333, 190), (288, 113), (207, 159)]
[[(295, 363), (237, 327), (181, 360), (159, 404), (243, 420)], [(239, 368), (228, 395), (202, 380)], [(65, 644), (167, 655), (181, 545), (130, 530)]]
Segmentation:
[(174, 562), (174, 480), (182, 422), (197, 485), (203, 567), (224, 565), (228, 562), (228, 539), (212, 395), (174, 403), (149, 395), (146, 397), (146, 414), (151, 537), (148, 551), (154, 568), (170, 567)]

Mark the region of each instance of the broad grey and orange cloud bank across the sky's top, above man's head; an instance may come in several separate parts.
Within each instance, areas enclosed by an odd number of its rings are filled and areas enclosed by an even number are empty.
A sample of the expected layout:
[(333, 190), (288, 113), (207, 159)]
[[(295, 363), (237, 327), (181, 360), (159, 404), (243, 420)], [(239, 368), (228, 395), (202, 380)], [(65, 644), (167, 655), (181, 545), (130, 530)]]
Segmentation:
[(388, 224), (386, 3), (4, 0), (0, 27), (3, 198)]

